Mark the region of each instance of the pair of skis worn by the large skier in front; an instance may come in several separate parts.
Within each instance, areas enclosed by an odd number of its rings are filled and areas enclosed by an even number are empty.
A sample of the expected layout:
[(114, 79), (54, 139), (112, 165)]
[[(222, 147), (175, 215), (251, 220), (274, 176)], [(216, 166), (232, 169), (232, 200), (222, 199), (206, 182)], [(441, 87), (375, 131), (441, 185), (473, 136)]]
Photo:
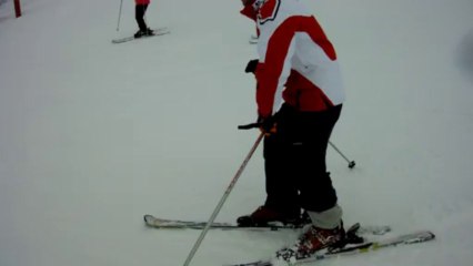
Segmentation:
[[(149, 227), (153, 228), (168, 228), (168, 229), (203, 229), (207, 225), (205, 222), (192, 222), (192, 221), (177, 221), (177, 219), (163, 219), (157, 218), (152, 215), (144, 215), (144, 223)], [(214, 229), (241, 229), (241, 231), (283, 231), (283, 229), (301, 229), (304, 225), (284, 225), (284, 224), (272, 224), (261, 227), (241, 227), (234, 224), (229, 223), (213, 223), (210, 228)], [(391, 226), (381, 225), (381, 226), (360, 226), (355, 224), (346, 231), (348, 241), (346, 245), (332, 249), (332, 250), (321, 250), (320, 253), (314, 254), (312, 257), (299, 259), (289, 265), (301, 265), (305, 263), (311, 263), (315, 260), (333, 258), (345, 255), (353, 255), (360, 253), (366, 253), (372, 250), (378, 250), (384, 247), (393, 247), (399, 245), (410, 245), (415, 243), (424, 243), (435, 238), (435, 235), (430, 231), (419, 231), (410, 234), (401, 234), (395, 236), (381, 237), (391, 232)], [(368, 239), (369, 236), (380, 236), (380, 239)], [(271, 259), (258, 260), (246, 264), (232, 264), (224, 266), (273, 266), (274, 264)]]

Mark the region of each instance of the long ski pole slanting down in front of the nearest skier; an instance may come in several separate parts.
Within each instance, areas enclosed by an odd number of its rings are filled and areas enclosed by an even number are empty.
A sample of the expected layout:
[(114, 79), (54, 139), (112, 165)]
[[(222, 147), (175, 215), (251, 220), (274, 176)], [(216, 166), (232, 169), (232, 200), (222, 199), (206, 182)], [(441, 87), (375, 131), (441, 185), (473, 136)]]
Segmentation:
[(243, 173), (243, 170), (246, 167), (246, 164), (250, 161), (251, 156), (253, 155), (254, 151), (256, 151), (256, 147), (260, 144), (263, 136), (264, 136), (263, 133), (261, 133), (260, 136), (258, 136), (256, 142), (251, 147), (250, 152), (248, 153), (246, 157), (244, 158), (243, 163), (241, 164), (241, 166), (238, 170), (236, 174), (234, 175), (233, 180), (230, 182), (230, 185), (227, 187), (225, 193), (223, 194), (222, 198), (220, 198), (219, 204), (217, 205), (215, 209), (213, 211), (212, 215), (210, 216), (209, 222), (207, 222), (205, 227), (202, 229), (202, 233), (200, 234), (194, 246), (192, 247), (191, 252), (189, 253), (189, 256), (185, 259), (184, 266), (188, 266), (191, 263), (192, 257), (195, 255), (197, 249), (199, 248), (200, 244), (203, 241), (203, 237), (205, 237), (207, 232), (210, 229), (210, 226), (213, 224), (213, 221), (215, 221), (217, 215), (219, 214), (220, 209), (223, 206), (223, 203), (227, 201), (227, 197), (229, 197), (230, 192), (233, 190), (233, 186), (236, 184), (238, 178), (240, 177), (241, 173)]

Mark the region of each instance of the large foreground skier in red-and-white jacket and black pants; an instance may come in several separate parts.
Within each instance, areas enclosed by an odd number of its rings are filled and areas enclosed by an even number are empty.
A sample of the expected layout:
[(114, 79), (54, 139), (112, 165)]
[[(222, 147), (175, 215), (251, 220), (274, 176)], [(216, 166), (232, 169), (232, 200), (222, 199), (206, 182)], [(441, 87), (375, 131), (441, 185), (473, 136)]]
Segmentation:
[(303, 258), (344, 237), (342, 209), (326, 172), (325, 153), (344, 101), (335, 50), (299, 0), (242, 0), (260, 32), (259, 59), (246, 65), (256, 78), (258, 121), (264, 137), (266, 200), (240, 225), (300, 221), (312, 226), (284, 260)]

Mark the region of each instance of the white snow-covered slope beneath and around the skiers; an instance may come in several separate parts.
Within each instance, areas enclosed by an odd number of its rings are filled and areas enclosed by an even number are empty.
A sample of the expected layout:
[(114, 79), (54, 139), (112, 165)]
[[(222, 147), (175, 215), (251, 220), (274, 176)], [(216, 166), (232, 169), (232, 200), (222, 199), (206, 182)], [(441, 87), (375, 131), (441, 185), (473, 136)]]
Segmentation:
[[(412, 248), (330, 266), (473, 263), (473, 2), (303, 0), (338, 49), (348, 100), (328, 163), (346, 224), (432, 229)], [(198, 231), (142, 215), (208, 219), (258, 132), (255, 47), (240, 1), (0, 1), (0, 265), (182, 265)], [(264, 200), (261, 150), (218, 221)], [(208, 234), (192, 265), (266, 257), (291, 233)]]

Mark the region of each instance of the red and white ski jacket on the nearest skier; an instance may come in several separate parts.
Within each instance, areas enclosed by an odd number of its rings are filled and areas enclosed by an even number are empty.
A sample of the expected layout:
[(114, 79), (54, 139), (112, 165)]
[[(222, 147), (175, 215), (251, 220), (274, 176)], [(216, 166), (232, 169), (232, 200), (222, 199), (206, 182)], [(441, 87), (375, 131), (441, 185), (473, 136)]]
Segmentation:
[(299, 0), (256, 0), (241, 13), (254, 19), (260, 32), (255, 72), (260, 116), (274, 114), (283, 102), (303, 112), (343, 102), (335, 50)]

